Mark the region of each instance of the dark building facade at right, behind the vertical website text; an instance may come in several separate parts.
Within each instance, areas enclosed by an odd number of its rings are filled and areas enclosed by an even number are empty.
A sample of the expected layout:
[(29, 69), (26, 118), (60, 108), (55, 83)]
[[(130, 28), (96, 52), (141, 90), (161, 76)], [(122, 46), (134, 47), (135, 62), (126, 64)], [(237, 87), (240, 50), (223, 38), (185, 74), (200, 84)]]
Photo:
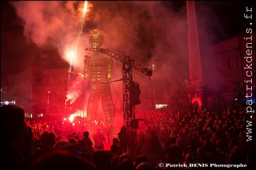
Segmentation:
[[(247, 92), (248, 99), (255, 99), (255, 44), (247, 38), (244, 34), (211, 47), (218, 87), (222, 87), (222, 96), (228, 101), (240, 94), (247, 98)], [(255, 33), (249, 39), (255, 42)]]

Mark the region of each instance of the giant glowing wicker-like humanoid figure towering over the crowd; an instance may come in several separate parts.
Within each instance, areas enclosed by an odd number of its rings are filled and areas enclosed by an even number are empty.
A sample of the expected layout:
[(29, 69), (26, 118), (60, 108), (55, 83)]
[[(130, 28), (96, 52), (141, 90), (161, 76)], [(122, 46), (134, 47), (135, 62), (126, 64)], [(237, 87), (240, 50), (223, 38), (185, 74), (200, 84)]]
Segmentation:
[(84, 76), (91, 78), (91, 94), (87, 104), (87, 116), (94, 119), (97, 116), (100, 97), (102, 99), (103, 110), (107, 119), (107, 125), (113, 125), (115, 113), (114, 103), (111, 96), (110, 83), (113, 59), (108, 55), (98, 52), (104, 43), (104, 32), (92, 30), (89, 35), (89, 45), (95, 51), (90, 55), (85, 55)]

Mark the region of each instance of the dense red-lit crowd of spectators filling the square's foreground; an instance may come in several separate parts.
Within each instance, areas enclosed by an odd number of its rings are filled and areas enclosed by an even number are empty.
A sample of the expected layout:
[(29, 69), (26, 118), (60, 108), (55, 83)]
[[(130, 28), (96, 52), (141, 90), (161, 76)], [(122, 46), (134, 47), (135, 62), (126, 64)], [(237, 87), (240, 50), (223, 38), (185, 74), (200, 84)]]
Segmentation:
[[(2, 169), (256, 168), (255, 116), (246, 108), (137, 113), (143, 121), (136, 135), (123, 126), (112, 138), (100, 128), (63, 133), (55, 120), (27, 122), (24, 113), (18, 105), (1, 107)], [(244, 168), (228, 168), (236, 165)]]

